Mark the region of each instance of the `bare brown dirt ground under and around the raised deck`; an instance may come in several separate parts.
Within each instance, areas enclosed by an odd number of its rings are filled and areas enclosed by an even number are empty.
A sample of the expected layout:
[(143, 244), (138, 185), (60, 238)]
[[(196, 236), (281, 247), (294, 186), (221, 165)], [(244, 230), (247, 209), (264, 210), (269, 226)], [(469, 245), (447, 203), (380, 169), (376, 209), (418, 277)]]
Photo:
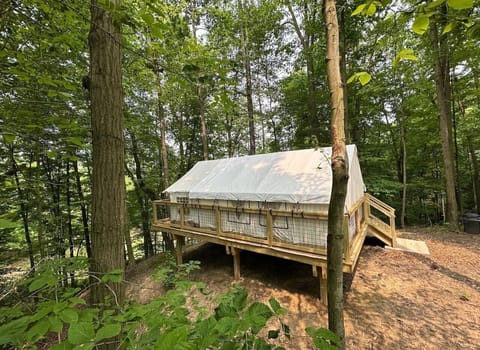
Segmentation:
[[(348, 349), (480, 349), (480, 235), (412, 229), (401, 237), (424, 240), (430, 255), (366, 244), (354, 275), (345, 275), (345, 328)], [(372, 242), (370, 242), (372, 243)], [(375, 242), (373, 242), (375, 243)], [(186, 254), (201, 269), (191, 278), (206, 283), (207, 308), (234, 283), (232, 257), (225, 248), (204, 245)], [(149, 275), (154, 261), (130, 271), (129, 295), (148, 301), (161, 293)], [(312, 349), (305, 328), (326, 327), (327, 310), (318, 299), (318, 278), (310, 266), (242, 252), (240, 284), (250, 299), (274, 297), (286, 309), (291, 339), (286, 349)], [(352, 278), (353, 277), (353, 278)], [(199, 293), (198, 293), (199, 294)], [(272, 327), (277, 326), (272, 320)]]

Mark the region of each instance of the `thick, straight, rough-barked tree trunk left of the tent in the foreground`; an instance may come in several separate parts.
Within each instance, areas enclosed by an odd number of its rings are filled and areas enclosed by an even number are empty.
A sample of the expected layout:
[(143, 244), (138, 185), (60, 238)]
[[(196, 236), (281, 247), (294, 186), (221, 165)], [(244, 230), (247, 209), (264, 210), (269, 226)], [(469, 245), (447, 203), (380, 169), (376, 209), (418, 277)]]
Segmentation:
[[(118, 5), (119, 1), (112, 1)], [(90, 274), (101, 279), (112, 270), (125, 269), (124, 233), (126, 229), (123, 94), (120, 28), (112, 15), (96, 0), (91, 3), (90, 100), (92, 109), (92, 258)], [(121, 305), (125, 288), (108, 282), (96, 283), (91, 303), (108, 298)], [(111, 343), (104, 348), (117, 348)]]

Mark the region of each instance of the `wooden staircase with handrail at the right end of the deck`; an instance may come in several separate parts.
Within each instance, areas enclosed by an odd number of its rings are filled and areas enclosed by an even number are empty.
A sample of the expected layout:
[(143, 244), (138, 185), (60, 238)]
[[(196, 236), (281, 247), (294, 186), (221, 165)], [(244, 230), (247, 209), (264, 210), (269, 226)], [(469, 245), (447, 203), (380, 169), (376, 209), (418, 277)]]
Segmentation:
[(368, 203), (368, 233), (377, 237), (386, 245), (395, 247), (397, 245), (397, 234), (395, 231), (395, 209), (368, 193), (366, 194), (366, 199)]

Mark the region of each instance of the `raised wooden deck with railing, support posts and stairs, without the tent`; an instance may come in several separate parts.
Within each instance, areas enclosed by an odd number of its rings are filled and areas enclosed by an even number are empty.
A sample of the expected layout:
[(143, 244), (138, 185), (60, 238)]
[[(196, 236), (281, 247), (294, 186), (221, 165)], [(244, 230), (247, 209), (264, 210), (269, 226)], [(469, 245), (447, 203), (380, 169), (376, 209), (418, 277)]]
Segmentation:
[[(179, 214), (176, 220), (170, 217), (162, 218), (160, 213), (170, 213), (174, 208)], [(380, 212), (384, 219), (372, 213), (372, 208)], [(163, 209), (163, 210), (162, 210)], [(214, 224), (211, 227), (198, 227), (198, 224), (186, 220), (186, 212), (190, 209), (203, 209), (214, 213)], [(240, 277), (240, 252), (248, 250), (260, 254), (271, 255), (283, 259), (298, 261), (312, 266), (312, 272), (320, 280), (320, 298), (326, 303), (326, 273), (327, 252), (325, 245), (298, 244), (282, 240), (274, 232), (274, 218), (299, 218), (304, 220), (319, 220), (326, 222), (328, 214), (324, 212), (282, 211), (274, 209), (242, 208), (242, 213), (251, 213), (265, 219), (264, 237), (254, 237), (242, 232), (226, 232), (222, 227), (222, 213), (235, 212), (238, 209), (218, 205), (199, 205), (172, 203), (170, 201), (155, 201), (153, 203), (154, 231), (167, 232), (176, 240), (177, 261), (182, 262), (182, 248), (185, 237), (200, 241), (224, 245), (227, 254), (233, 256), (234, 276)], [(387, 220), (385, 220), (385, 217)], [(355, 230), (348, 234), (349, 223), (354, 220)], [(394, 209), (382, 203), (375, 197), (366, 194), (344, 218), (344, 259), (343, 271), (352, 273), (360, 255), (367, 233), (373, 234), (390, 246), (395, 246), (395, 213)], [(350, 237), (351, 236), (351, 237)]]

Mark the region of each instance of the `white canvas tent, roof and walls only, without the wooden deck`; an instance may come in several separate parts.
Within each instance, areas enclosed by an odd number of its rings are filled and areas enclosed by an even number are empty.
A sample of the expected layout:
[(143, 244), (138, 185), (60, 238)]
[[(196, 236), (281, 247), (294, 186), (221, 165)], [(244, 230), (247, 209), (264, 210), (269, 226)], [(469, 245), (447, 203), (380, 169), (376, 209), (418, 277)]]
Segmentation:
[[(365, 189), (355, 145), (347, 146), (347, 155), (346, 213), (362, 200)], [(331, 147), (325, 147), (201, 161), (165, 192), (173, 203), (235, 208), (236, 212), (222, 213), (222, 229), (262, 239), (267, 235), (266, 216), (241, 210), (273, 208), (326, 212), (332, 185), (330, 158)], [(180, 214), (172, 208), (170, 216), (178, 220)], [(276, 240), (326, 246), (326, 221), (293, 217), (274, 217), (274, 220)], [(214, 229), (216, 225), (214, 211), (205, 208), (190, 208), (186, 221), (200, 228)], [(351, 220), (351, 237), (355, 229), (355, 220)]]

